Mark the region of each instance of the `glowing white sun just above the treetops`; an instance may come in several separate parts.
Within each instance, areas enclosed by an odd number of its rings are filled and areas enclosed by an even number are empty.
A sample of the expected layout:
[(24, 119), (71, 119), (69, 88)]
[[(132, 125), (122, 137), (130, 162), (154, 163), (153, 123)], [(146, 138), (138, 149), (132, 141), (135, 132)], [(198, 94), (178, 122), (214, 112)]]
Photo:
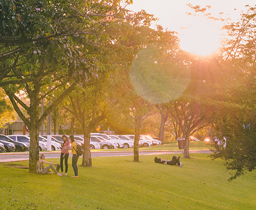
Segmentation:
[(220, 31), (207, 22), (194, 22), (180, 34), (181, 49), (197, 55), (211, 55), (220, 47)]

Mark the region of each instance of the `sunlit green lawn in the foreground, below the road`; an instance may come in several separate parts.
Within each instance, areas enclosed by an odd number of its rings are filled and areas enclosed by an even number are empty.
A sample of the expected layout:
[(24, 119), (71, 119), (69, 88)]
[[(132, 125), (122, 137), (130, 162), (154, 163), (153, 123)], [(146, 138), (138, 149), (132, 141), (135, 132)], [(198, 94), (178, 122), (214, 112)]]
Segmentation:
[(63, 177), (13, 167), (28, 161), (1, 163), (1, 209), (256, 209), (256, 172), (228, 182), (223, 161), (208, 154), (181, 158), (184, 167), (156, 164), (154, 156), (140, 155), (140, 163), (133, 156), (92, 158), (92, 168), (78, 167), (78, 178), (70, 177), (71, 158)]

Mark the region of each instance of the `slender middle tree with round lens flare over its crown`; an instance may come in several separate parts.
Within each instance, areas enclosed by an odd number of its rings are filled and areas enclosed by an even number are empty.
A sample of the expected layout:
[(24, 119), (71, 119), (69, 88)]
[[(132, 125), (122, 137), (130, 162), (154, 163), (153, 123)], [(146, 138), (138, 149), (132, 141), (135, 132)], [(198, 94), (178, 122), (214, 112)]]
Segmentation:
[(175, 33), (164, 31), (161, 26), (157, 30), (141, 27), (137, 31), (136, 36), (130, 38), (129, 43), (133, 43), (130, 57), (119, 69), (119, 76), (111, 77), (113, 89), (110, 90), (116, 110), (120, 110), (126, 122), (133, 123), (134, 162), (139, 162), (138, 143), (143, 121), (153, 113), (155, 104), (172, 100), (184, 89), (176, 86), (180, 81), (175, 74), (182, 65), (173, 59), (178, 49)]

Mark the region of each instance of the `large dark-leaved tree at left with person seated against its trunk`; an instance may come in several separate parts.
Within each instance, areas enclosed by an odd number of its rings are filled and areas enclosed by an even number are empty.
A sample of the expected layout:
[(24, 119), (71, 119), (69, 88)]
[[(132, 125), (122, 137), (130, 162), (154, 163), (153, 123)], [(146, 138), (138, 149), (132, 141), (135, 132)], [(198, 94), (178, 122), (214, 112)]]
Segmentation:
[[(96, 77), (95, 57), (88, 51), (98, 47), (97, 36), (110, 33), (113, 19), (125, 18), (127, 10), (120, 4), (111, 0), (0, 3), (0, 87), (30, 131), (29, 172), (36, 171), (44, 119), (76, 85), (90, 75)], [(143, 12), (137, 16), (143, 21)], [(29, 98), (29, 106), (16, 96), (20, 90)], [(44, 98), (53, 102), (40, 116), (38, 106)]]

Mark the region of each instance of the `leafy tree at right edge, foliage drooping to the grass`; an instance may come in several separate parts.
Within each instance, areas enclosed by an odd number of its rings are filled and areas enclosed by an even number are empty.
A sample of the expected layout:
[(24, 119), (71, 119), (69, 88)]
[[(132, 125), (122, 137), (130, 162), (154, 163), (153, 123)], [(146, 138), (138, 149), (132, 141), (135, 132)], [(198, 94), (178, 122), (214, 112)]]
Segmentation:
[[(248, 6), (249, 7), (249, 6)], [(247, 171), (255, 170), (255, 26), (256, 7), (249, 7), (236, 23), (224, 26), (229, 37), (222, 48), (225, 66), (225, 101), (233, 106), (220, 110), (215, 131), (226, 139), (213, 158), (225, 159), (228, 170), (233, 170), (229, 180)]]

